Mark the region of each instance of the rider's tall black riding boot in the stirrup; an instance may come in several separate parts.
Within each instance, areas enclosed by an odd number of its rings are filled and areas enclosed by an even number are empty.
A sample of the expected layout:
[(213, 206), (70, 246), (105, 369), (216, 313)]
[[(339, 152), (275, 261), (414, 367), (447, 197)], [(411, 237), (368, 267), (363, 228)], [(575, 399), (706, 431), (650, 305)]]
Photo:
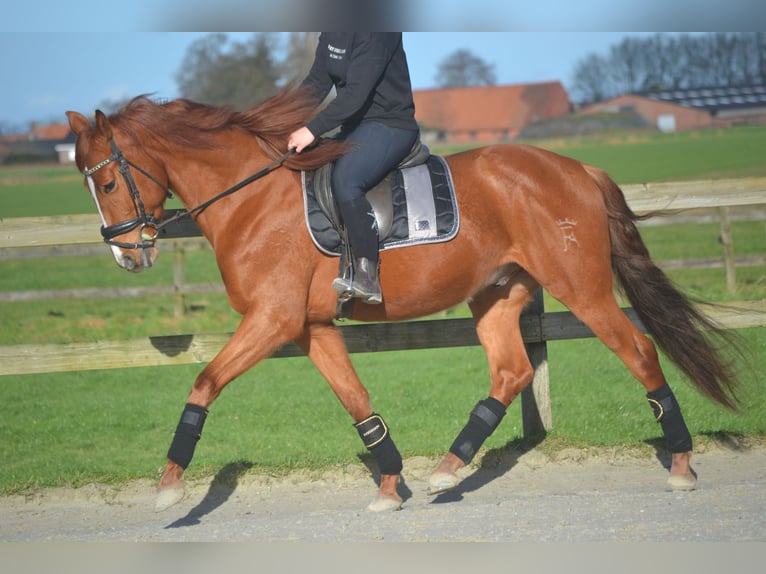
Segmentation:
[(341, 295), (351, 292), (365, 303), (383, 302), (378, 282), (378, 226), (367, 198), (360, 197), (338, 205), (351, 244), (350, 279), (337, 278), (332, 286)]

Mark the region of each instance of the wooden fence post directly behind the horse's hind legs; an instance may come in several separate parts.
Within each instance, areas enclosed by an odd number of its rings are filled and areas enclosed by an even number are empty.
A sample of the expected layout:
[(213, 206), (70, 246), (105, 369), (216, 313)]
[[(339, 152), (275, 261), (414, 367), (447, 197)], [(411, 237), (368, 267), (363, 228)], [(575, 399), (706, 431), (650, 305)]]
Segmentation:
[[(538, 289), (529, 304), (530, 315), (542, 321), (545, 312), (543, 290)], [(542, 331), (542, 329), (541, 329)], [(549, 431), (551, 417), (550, 377), (548, 372), (548, 344), (527, 343), (527, 354), (535, 369), (532, 383), (521, 393), (521, 420), (524, 437), (529, 438)]]

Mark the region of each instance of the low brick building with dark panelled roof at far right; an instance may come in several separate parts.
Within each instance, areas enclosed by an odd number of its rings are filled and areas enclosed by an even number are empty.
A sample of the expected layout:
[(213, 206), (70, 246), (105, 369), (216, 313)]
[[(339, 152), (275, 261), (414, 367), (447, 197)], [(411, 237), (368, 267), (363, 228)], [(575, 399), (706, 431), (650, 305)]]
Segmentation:
[(581, 114), (634, 111), (660, 131), (766, 123), (766, 86), (656, 90), (623, 94), (584, 107)]

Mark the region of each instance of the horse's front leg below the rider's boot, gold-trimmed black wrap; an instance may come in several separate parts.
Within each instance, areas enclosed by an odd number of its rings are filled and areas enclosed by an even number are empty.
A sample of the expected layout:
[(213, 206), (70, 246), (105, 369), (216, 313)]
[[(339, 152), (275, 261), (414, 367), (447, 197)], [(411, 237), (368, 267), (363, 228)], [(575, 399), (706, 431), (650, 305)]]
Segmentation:
[(354, 370), (340, 331), (332, 324), (311, 324), (295, 342), (330, 384), (378, 464), (380, 486), (367, 510), (398, 510), (402, 505), (402, 497), (397, 492), (402, 457), (383, 417), (372, 410), (369, 393)]

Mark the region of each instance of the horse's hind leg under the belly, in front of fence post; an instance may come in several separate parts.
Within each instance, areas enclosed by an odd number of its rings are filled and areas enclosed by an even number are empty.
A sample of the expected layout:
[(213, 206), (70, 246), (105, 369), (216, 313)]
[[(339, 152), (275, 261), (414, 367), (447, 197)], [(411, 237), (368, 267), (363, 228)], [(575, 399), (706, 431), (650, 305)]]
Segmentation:
[(457, 471), (471, 462), (500, 424), (508, 405), (532, 381), (534, 369), (524, 347), (519, 319), (537, 288), (534, 279), (526, 272), (517, 270), (512, 281), (506, 285), (489, 287), (470, 301), (479, 341), (489, 361), (489, 396), (479, 401), (471, 411), (468, 423), (431, 474), (431, 494), (457, 486)]

